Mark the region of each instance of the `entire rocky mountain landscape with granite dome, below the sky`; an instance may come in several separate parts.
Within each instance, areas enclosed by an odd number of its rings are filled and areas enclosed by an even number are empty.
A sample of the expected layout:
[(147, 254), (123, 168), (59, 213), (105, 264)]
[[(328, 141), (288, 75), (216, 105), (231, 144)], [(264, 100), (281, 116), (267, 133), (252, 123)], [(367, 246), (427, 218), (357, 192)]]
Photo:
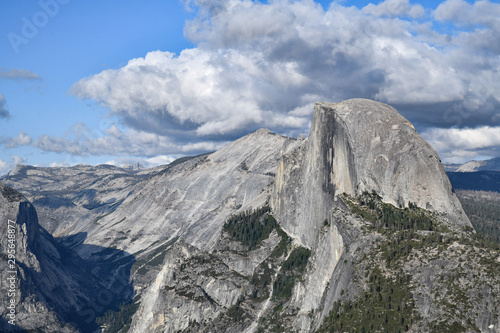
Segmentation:
[(314, 111), (305, 140), (261, 129), (155, 169), (17, 167), (1, 329), (500, 332), (500, 247), (434, 149), (383, 103)]

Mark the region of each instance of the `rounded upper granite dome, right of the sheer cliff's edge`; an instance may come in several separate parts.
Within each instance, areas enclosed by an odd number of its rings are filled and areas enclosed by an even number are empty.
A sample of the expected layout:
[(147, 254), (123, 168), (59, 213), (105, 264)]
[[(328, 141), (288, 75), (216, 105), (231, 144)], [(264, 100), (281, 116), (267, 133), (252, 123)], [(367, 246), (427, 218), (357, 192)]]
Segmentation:
[(359, 195), (374, 190), (395, 206), (409, 202), (469, 225), (434, 149), (394, 108), (353, 99), (318, 103), (311, 141), (330, 166), (324, 188)]

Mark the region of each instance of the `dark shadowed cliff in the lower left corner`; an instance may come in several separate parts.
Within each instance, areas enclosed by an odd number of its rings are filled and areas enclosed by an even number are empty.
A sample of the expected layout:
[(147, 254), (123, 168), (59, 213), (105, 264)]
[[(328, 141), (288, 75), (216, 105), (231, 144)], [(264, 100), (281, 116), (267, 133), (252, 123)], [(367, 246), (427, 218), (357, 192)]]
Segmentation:
[[(103, 306), (120, 302), (122, 296), (109, 292), (102, 276), (94, 275), (87, 262), (41, 228), (34, 206), (2, 183), (0, 207), (0, 236), (6, 241), (0, 268), (15, 276), (15, 288), (8, 288), (15, 296), (7, 297), (4, 288), (0, 295), (2, 318), (7, 319), (0, 322), (2, 331), (74, 332), (95, 328), (94, 320), (102, 314)], [(11, 254), (8, 239), (15, 244), (12, 261), (7, 260)], [(125, 286), (129, 286), (128, 277)], [(126, 288), (122, 286), (120, 292), (126, 293)], [(8, 323), (11, 310), (6, 305), (11, 299), (15, 301), (15, 326)]]

